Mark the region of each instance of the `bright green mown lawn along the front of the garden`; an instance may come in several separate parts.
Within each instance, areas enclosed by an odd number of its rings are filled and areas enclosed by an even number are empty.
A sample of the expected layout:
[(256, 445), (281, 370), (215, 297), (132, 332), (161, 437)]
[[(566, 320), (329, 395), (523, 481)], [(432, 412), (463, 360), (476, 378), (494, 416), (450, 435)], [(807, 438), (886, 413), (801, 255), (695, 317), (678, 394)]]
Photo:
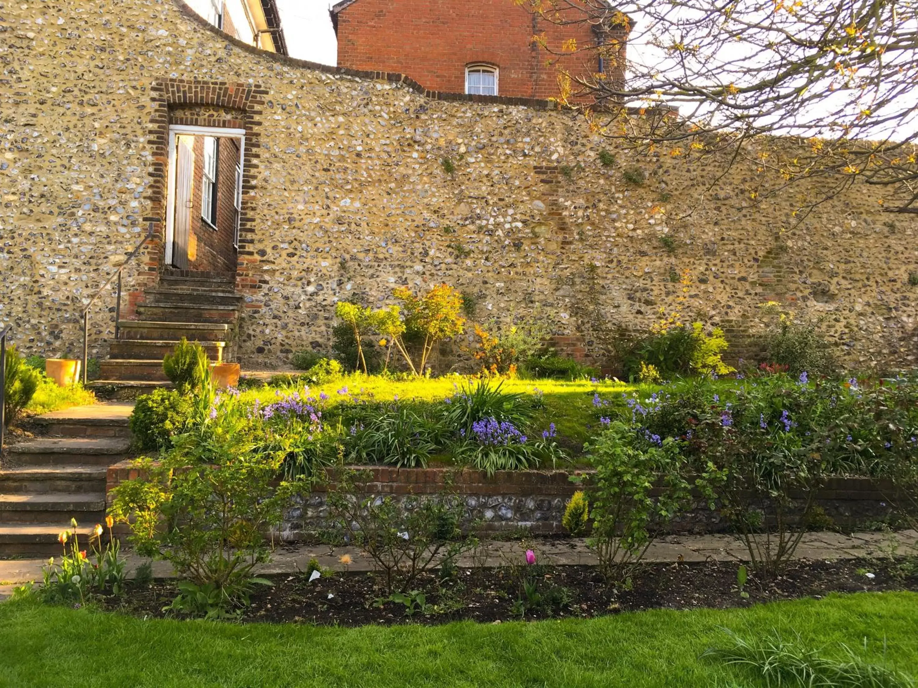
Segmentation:
[[(141, 620), (0, 605), (0, 686), (756, 686), (700, 653), (777, 631), (827, 656), (918, 670), (918, 594), (479, 626)], [(865, 649), (866, 643), (866, 649)]]

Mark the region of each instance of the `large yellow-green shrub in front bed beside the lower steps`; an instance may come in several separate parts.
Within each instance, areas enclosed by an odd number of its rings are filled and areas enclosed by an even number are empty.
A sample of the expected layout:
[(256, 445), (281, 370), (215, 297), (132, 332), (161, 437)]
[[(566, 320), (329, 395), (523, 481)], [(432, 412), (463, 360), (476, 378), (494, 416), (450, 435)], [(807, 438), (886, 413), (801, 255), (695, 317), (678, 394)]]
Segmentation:
[(201, 394), (174, 449), (139, 460), (140, 477), (114, 490), (112, 515), (129, 523), (135, 549), (187, 579), (173, 605), (180, 613), (229, 616), (248, 604), (264, 583), (252, 575), (268, 559), (263, 533), (303, 485), (275, 483), (285, 452), (265, 446), (246, 411), (231, 394)]

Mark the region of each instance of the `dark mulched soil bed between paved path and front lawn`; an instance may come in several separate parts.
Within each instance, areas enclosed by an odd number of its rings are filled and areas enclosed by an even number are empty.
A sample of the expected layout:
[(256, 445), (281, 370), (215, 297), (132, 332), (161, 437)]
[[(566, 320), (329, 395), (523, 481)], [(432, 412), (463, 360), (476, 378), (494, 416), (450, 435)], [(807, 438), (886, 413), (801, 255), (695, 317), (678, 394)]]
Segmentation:
[[(430, 576), (411, 586), (423, 591), (430, 605), (426, 612), (411, 616), (405, 614), (405, 605), (382, 601), (387, 594), (373, 574), (336, 573), (312, 583), (302, 574), (270, 576), (274, 586), (259, 588), (252, 595), (252, 606), (243, 611), (241, 620), (341, 626), (505, 621), (521, 617), (518, 600), (526, 597), (521, 572), (532, 574), (533, 570), (460, 569), (445, 581)], [(742, 607), (828, 593), (918, 592), (918, 572), (904, 560), (800, 560), (774, 581), (759, 581), (750, 573), (745, 585), (748, 597), (737, 589), (735, 563), (647, 565), (633, 577), (630, 587), (610, 586), (591, 566), (542, 567), (538, 572), (541, 600), (525, 610), (527, 619), (602, 616), (652, 608)], [(120, 598), (108, 597), (103, 604), (137, 616), (167, 616), (162, 607), (175, 594), (174, 583), (157, 582)]]

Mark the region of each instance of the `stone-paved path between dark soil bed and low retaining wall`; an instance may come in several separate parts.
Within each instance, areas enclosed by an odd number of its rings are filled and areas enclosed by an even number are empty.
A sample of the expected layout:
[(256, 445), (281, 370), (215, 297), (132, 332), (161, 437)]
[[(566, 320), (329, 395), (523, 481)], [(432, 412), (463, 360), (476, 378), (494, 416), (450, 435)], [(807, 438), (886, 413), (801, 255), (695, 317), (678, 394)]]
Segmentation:
[[(533, 539), (511, 541), (487, 541), (477, 551), (459, 560), (461, 566), (500, 566), (509, 562), (521, 562), (524, 550), (532, 547), (538, 560), (557, 565), (595, 564), (596, 555), (588, 549), (583, 538)], [(898, 533), (808, 533), (800, 541), (796, 559), (841, 560), (863, 557), (885, 557), (890, 554), (918, 552), (918, 532), (903, 530)], [(341, 557), (349, 555), (352, 563), (349, 571), (371, 571), (373, 562), (360, 550), (353, 547), (332, 548), (322, 545), (281, 547), (274, 551), (272, 560), (260, 566), (261, 573), (295, 573), (303, 571), (310, 559), (315, 557), (319, 564), (342, 571)], [(666, 536), (655, 541), (645, 556), (649, 562), (667, 561), (743, 561), (747, 560), (743, 543), (731, 535)], [(58, 558), (60, 561), (60, 558)], [(129, 575), (142, 559), (128, 554)], [(12, 592), (17, 584), (41, 580), (41, 567), (47, 559), (0, 560), (0, 599)], [(165, 561), (153, 562), (153, 574), (157, 578), (173, 577), (171, 566)]]

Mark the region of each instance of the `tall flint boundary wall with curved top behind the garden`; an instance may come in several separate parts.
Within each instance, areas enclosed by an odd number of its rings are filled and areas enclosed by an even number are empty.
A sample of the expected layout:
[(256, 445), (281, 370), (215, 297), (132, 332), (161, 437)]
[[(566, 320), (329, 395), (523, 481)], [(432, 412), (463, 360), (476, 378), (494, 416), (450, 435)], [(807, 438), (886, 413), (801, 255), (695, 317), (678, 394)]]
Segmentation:
[[(771, 299), (821, 319), (849, 365), (918, 361), (918, 217), (882, 212), (879, 187), (857, 183), (800, 219), (818, 183), (754, 203), (779, 181), (743, 161), (723, 175), (717, 158), (618, 147), (545, 100), (255, 50), (174, 0), (2, 16), (0, 324), (27, 353), (79, 348), (84, 303), (151, 227), (124, 274), (129, 304), (157, 283), (168, 127), (211, 123), (246, 130), (244, 367), (327, 348), (342, 297), (382, 305), (397, 285), (442, 282), (477, 294), (481, 320), (536, 314), (583, 338), (585, 361), (661, 309), (754, 350)], [(632, 168), (644, 183), (625, 179)], [(91, 355), (114, 334), (111, 289), (90, 312)]]

